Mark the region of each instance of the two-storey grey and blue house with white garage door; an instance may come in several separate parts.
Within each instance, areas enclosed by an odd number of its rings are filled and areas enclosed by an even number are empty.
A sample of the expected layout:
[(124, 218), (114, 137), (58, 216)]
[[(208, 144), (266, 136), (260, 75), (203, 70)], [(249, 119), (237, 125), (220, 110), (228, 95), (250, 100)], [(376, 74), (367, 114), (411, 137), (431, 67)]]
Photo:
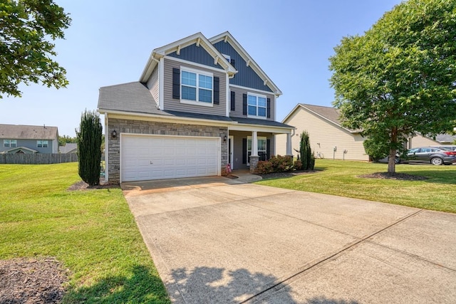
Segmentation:
[(253, 170), (276, 154), (281, 91), (229, 33), (152, 51), (138, 82), (100, 88), (108, 182)]

